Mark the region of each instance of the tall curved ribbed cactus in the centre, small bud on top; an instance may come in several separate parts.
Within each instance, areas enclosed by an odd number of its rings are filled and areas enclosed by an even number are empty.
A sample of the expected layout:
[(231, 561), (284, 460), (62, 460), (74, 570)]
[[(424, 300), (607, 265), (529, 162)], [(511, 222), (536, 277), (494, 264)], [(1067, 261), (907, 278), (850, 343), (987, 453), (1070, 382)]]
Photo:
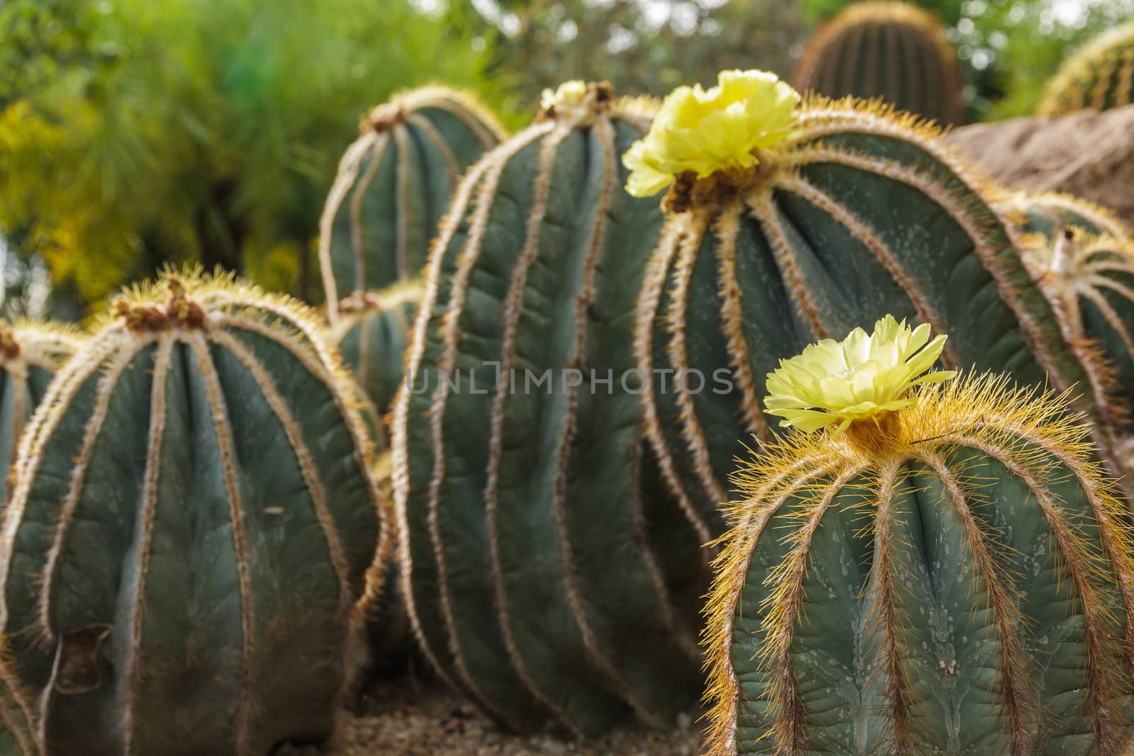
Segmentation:
[(471, 169), (395, 404), (414, 631), (445, 679), (517, 730), (672, 725), (700, 688), (704, 586), (663, 562), (696, 542), (676, 504), (640, 495), (640, 381), (621, 383), (661, 213), (623, 192), (619, 158), (651, 113), (570, 82)]

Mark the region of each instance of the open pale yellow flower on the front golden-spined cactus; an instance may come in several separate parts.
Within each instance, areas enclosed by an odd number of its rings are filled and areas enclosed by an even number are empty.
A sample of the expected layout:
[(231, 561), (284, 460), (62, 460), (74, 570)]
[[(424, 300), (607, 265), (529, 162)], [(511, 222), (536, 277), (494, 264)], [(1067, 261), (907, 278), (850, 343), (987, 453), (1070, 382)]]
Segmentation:
[(843, 341), (823, 339), (768, 374), (764, 407), (786, 419), (782, 427), (811, 433), (829, 425), (841, 433), (850, 423), (902, 409), (906, 392), (922, 383), (948, 381), (956, 371), (925, 373), (945, 348), (945, 334), (929, 340), (929, 325), (916, 329), (887, 315), (866, 335), (861, 328)]

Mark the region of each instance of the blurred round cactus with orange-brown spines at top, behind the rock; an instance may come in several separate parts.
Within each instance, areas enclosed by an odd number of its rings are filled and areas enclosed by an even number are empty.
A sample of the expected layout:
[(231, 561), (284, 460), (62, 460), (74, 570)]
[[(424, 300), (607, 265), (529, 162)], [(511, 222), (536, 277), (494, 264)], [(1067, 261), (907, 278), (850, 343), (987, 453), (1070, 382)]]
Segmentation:
[(830, 97), (882, 97), (942, 124), (964, 122), (957, 53), (933, 15), (905, 2), (849, 6), (804, 48), (792, 84)]

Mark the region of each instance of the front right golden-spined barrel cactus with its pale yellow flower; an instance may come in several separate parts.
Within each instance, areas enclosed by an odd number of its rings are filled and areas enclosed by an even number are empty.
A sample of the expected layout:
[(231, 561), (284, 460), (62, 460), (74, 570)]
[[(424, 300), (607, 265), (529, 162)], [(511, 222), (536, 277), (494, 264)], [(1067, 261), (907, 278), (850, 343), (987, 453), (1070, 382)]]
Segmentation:
[(1061, 398), (883, 318), (781, 363), (706, 614), (708, 753), (1100, 754), (1134, 736), (1134, 545)]

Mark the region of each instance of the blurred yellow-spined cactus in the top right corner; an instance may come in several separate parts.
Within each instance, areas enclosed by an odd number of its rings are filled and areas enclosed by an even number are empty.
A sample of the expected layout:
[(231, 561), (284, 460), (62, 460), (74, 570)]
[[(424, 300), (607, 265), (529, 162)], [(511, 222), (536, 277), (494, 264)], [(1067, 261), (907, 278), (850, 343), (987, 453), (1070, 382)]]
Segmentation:
[(1134, 102), (1134, 22), (1100, 34), (1068, 58), (1040, 101), (1040, 116), (1109, 110)]

